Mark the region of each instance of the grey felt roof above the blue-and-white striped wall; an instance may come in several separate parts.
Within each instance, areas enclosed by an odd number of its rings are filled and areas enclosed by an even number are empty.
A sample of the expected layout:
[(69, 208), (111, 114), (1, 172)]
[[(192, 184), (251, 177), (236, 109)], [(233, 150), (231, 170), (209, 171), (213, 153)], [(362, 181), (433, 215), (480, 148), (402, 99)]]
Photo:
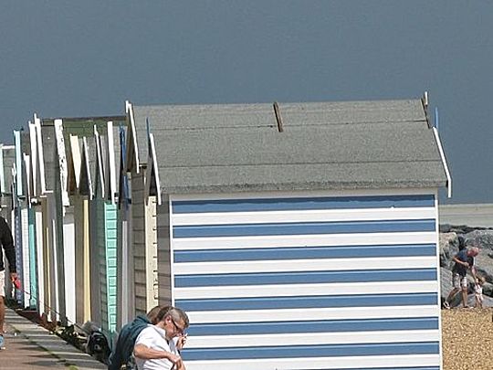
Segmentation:
[(421, 100), (134, 106), (165, 194), (437, 187), (446, 172)]

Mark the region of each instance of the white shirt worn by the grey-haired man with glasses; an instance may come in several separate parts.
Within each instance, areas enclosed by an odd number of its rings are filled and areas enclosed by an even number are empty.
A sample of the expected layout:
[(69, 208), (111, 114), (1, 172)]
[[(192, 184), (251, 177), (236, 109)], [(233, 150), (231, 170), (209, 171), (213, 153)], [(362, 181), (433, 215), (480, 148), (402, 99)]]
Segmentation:
[[(155, 325), (149, 324), (147, 328), (142, 330), (142, 332), (137, 337), (135, 345), (143, 344), (146, 347), (161, 350), (166, 352), (171, 352), (172, 354), (178, 354), (178, 350), (174, 345), (174, 341), (168, 341), (165, 337), (166, 332), (158, 328)], [(135, 363), (139, 370), (170, 370), (173, 363), (167, 358), (156, 358), (152, 360), (143, 360), (142, 358), (135, 357)]]

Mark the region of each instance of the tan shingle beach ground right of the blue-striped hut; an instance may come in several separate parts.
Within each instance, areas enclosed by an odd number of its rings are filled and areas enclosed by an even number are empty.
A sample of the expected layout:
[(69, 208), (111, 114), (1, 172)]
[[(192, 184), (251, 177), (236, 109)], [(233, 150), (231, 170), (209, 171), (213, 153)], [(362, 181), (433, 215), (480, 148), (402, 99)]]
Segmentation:
[(442, 310), (444, 370), (493, 369), (493, 308)]

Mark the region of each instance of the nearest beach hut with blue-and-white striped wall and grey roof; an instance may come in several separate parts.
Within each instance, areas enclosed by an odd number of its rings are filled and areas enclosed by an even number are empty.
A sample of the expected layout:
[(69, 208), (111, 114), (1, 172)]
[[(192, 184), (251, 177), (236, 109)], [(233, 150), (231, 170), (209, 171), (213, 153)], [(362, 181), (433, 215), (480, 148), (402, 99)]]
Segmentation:
[(159, 301), (192, 322), (187, 369), (441, 368), (437, 202), (451, 179), (426, 110), (133, 106), (161, 203)]

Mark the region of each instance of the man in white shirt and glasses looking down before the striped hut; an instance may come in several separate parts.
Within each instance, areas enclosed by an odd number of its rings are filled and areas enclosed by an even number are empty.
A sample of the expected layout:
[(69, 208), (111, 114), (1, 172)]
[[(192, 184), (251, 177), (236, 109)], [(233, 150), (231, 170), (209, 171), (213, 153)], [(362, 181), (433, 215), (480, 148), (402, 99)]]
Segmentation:
[(163, 319), (149, 325), (137, 337), (133, 354), (139, 370), (185, 370), (173, 338), (184, 336), (188, 316), (179, 308), (171, 308)]

